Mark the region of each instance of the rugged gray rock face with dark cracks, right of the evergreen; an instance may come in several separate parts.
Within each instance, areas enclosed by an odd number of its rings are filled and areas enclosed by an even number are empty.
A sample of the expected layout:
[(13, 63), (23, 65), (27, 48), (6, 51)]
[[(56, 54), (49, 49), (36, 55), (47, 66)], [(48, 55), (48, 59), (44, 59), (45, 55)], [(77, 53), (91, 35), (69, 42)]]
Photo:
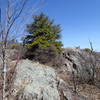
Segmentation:
[[(99, 53), (90, 53), (79, 48), (66, 48), (63, 53), (63, 61), (65, 72), (76, 72), (83, 77), (83, 80), (92, 77), (93, 66), (100, 69)], [(95, 75), (97, 76), (97, 75)]]

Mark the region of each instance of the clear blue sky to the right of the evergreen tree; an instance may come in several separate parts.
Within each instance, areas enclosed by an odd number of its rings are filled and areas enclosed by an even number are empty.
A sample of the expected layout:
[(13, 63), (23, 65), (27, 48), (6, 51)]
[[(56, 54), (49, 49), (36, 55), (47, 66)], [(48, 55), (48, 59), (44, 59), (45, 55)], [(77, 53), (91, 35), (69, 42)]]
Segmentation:
[(61, 24), (64, 47), (100, 50), (100, 0), (47, 0), (42, 11)]

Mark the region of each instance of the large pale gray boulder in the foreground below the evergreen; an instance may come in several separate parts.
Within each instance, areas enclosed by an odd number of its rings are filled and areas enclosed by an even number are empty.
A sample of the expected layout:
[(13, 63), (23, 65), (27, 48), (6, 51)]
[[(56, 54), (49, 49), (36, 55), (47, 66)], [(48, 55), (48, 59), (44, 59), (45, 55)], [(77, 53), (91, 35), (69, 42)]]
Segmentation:
[(55, 71), (29, 60), (19, 62), (12, 90), (18, 100), (60, 100)]

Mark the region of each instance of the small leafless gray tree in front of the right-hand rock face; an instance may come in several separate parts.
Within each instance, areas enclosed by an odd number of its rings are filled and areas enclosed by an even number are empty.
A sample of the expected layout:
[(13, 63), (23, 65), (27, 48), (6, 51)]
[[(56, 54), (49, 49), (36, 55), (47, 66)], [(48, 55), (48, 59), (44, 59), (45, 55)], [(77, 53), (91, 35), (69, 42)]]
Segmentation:
[(79, 53), (81, 58), (80, 63), (82, 69), (80, 69), (80, 79), (83, 82), (87, 82), (89, 84), (94, 84), (96, 81), (96, 69), (99, 67), (100, 64), (98, 54), (94, 51), (92, 42), (90, 42), (91, 49), (89, 51), (83, 51)]

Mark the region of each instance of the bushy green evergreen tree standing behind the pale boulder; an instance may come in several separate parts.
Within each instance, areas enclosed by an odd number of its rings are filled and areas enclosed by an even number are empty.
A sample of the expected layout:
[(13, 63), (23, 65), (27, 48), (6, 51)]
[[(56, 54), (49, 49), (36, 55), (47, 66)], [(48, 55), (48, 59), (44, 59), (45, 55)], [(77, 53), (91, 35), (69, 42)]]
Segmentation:
[(41, 59), (40, 55), (51, 57), (60, 53), (60, 25), (55, 25), (54, 21), (43, 13), (33, 16), (33, 19), (33, 23), (27, 25), (28, 34), (24, 39), (24, 44), (28, 48), (26, 56)]

